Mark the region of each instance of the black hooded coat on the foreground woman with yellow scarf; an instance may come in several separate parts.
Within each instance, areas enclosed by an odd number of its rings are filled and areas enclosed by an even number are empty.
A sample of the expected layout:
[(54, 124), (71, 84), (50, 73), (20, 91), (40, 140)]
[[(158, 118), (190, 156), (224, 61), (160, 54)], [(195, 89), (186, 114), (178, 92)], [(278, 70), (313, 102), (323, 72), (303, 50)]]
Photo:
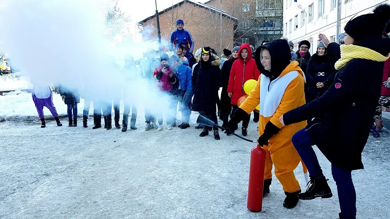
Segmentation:
[[(358, 43), (382, 55), (390, 39)], [(334, 165), (346, 170), (363, 168), (362, 151), (373, 124), (381, 92), (383, 62), (353, 59), (337, 72), (334, 83), (318, 99), (284, 114), (286, 125), (314, 118), (307, 132)]]

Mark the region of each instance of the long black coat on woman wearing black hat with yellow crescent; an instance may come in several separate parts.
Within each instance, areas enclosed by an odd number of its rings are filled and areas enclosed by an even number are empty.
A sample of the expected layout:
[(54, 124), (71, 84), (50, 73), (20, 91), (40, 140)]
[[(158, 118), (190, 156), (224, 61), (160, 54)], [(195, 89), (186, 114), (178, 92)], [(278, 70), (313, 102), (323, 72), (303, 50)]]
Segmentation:
[(201, 60), (195, 66), (192, 74), (194, 97), (191, 109), (193, 111), (205, 113), (216, 112), (216, 97), (218, 96), (220, 83), (219, 76), (220, 69), (218, 66), (211, 65), (211, 59), (208, 62)]

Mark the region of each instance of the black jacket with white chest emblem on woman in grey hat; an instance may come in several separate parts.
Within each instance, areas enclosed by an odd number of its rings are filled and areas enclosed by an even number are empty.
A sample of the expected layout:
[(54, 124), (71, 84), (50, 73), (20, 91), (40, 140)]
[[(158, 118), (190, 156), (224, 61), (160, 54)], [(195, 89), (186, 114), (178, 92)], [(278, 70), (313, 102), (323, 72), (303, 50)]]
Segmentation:
[[(306, 70), (306, 82), (308, 84), (307, 95), (310, 101), (321, 97), (332, 85), (335, 78), (335, 63), (329, 54), (322, 56), (315, 53), (309, 60)], [(321, 82), (324, 87), (317, 88), (317, 83)]]

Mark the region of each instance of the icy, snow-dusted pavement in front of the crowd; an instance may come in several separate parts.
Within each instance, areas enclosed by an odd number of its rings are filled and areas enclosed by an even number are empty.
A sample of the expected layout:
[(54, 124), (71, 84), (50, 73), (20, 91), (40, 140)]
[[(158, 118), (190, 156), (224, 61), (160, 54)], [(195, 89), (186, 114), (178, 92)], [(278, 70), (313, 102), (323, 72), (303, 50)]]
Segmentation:
[[(178, 113), (180, 114), (180, 113)], [(121, 132), (57, 127), (48, 121), (0, 122), (0, 218), (2, 219), (317, 219), (337, 218), (339, 201), (330, 163), (317, 153), (334, 196), (282, 207), (285, 195), (273, 177), (263, 210), (246, 209), (250, 149), (221, 134), (199, 137), (181, 130)], [(248, 138), (257, 138), (250, 122)], [(358, 218), (389, 218), (390, 134), (369, 138), (364, 170), (353, 171)], [(316, 151), (318, 152), (317, 148)], [(305, 179), (298, 166), (302, 190)]]

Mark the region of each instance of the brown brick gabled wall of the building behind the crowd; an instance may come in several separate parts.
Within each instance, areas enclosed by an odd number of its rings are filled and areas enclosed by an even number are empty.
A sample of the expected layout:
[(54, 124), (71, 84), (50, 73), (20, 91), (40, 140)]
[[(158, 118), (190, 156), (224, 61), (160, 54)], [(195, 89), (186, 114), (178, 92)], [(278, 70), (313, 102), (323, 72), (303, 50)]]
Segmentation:
[[(184, 29), (190, 31), (195, 42), (195, 50), (210, 46), (221, 51), (233, 47), (234, 20), (222, 16), (222, 47), (220, 46), (220, 14), (194, 6), (188, 2), (160, 14), (161, 42), (163, 49), (168, 50), (170, 34), (176, 29), (177, 19), (184, 21)], [(156, 18), (144, 22), (143, 41), (157, 40)]]

